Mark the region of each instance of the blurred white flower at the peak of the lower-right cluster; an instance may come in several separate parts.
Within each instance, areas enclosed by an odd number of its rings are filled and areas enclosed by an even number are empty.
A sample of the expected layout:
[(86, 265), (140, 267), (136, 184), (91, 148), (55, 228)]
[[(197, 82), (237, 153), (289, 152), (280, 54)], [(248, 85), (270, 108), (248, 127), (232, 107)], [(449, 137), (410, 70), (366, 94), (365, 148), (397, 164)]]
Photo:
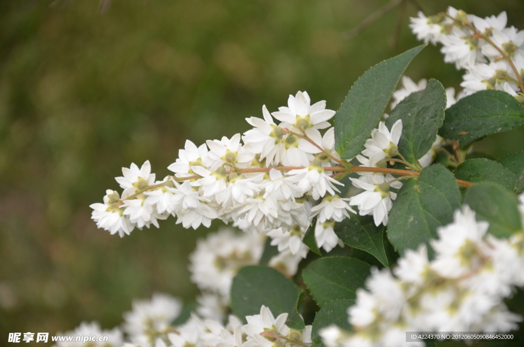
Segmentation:
[(481, 242), (489, 223), (475, 220), (468, 205), (455, 211), (453, 223), (437, 229), (439, 240), (432, 240), (436, 252), (431, 267), (441, 276), (456, 278), (481, 265)]

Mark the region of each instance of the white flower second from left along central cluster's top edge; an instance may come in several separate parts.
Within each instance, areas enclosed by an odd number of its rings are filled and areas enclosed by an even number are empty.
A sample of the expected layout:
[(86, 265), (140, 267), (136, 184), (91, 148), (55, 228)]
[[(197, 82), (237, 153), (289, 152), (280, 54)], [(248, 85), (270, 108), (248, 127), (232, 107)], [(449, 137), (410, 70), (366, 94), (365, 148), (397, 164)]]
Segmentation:
[(194, 176), (193, 166), (202, 166), (204, 169), (213, 164), (208, 156), (208, 146), (205, 144), (196, 147), (190, 140), (185, 140), (184, 149), (178, 150), (178, 158), (167, 168), (175, 173), (176, 177)]

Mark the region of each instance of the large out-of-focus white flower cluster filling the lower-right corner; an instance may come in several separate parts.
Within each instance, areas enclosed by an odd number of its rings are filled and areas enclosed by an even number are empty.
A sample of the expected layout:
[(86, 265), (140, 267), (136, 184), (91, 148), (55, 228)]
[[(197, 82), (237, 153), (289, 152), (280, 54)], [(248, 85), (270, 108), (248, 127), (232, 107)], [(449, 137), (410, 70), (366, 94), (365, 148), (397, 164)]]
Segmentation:
[[(524, 194), (520, 201), (524, 212)], [(347, 310), (355, 332), (325, 328), (320, 332), (324, 344), (402, 346), (406, 331), (517, 328), (522, 317), (503, 300), (524, 286), (524, 232), (499, 239), (486, 234), (488, 226), (464, 205), (455, 211), (454, 222), (438, 229), (439, 239), (431, 241), (432, 261), (422, 245), (407, 250), (392, 272), (374, 268), (367, 290), (358, 289), (355, 306)]]

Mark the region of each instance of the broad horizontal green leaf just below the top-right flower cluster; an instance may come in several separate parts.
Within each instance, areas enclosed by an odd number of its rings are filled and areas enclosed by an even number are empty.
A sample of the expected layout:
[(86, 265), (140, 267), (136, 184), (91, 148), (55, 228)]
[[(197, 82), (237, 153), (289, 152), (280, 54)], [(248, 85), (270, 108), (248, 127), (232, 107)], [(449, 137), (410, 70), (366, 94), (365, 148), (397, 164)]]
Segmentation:
[(524, 110), (506, 92), (483, 90), (446, 110), (439, 135), (450, 140), (478, 138), (508, 131), (524, 123)]

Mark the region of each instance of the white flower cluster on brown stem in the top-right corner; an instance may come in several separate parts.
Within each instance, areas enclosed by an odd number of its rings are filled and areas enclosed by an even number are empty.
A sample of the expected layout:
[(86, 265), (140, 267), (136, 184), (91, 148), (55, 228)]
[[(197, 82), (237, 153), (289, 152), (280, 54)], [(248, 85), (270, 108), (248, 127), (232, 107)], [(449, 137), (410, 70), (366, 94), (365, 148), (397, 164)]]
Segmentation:
[(517, 96), (524, 92), (524, 31), (506, 25), (506, 12), (481, 18), (449, 7), (431, 17), (419, 12), (410, 27), (419, 40), (442, 44), (445, 62), (467, 71), (464, 95), (496, 89)]

